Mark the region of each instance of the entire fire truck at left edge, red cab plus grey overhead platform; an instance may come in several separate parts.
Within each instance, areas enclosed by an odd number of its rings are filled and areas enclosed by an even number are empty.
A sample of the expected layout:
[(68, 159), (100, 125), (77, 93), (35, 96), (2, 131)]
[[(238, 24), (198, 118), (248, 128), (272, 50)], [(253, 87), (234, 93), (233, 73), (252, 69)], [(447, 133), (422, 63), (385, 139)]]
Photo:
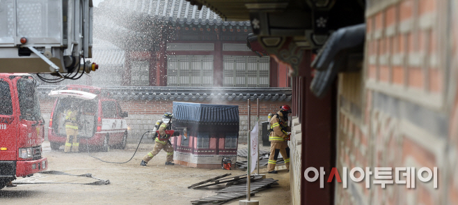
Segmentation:
[(0, 1), (0, 189), (47, 169), (36, 73), (45, 82), (98, 69), (92, 0)]

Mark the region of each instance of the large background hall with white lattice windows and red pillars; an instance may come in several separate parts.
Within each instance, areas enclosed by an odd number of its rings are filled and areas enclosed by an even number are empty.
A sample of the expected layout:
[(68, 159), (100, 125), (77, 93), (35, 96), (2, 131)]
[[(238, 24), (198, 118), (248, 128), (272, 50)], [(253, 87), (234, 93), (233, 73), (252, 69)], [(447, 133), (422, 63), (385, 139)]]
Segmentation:
[[(249, 21), (188, 1), (104, 1), (94, 36), (126, 51), (123, 86), (285, 87), (285, 66), (246, 46)], [(123, 11), (123, 15), (115, 15)], [(127, 16), (127, 17), (126, 17)], [(279, 81), (279, 79), (281, 79)]]

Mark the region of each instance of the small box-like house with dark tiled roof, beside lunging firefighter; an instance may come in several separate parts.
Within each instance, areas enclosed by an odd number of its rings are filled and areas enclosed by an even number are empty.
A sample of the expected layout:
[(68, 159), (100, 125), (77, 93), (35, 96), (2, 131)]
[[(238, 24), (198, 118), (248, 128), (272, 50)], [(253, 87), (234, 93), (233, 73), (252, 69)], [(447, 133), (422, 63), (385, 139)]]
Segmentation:
[(172, 137), (173, 160), (197, 168), (221, 168), (223, 157), (237, 161), (239, 106), (173, 102), (173, 128), (186, 136)]

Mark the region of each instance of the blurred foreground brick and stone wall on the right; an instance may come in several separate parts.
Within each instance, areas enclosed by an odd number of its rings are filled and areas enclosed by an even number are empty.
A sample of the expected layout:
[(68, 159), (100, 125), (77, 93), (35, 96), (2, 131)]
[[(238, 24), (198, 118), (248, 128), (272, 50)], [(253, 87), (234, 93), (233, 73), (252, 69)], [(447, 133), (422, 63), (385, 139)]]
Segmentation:
[(457, 204), (458, 1), (367, 2), (365, 69), (339, 75), (339, 173), (438, 167), (439, 188), (349, 180), (335, 204)]

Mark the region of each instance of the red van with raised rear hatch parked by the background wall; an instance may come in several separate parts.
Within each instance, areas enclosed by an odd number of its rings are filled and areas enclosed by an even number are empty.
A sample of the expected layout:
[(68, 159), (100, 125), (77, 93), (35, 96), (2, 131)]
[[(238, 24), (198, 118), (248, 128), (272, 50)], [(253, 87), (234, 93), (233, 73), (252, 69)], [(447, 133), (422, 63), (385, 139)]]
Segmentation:
[(95, 146), (109, 151), (109, 146), (125, 149), (127, 143), (127, 112), (118, 101), (102, 93), (95, 86), (68, 85), (49, 93), (56, 97), (49, 119), (48, 139), (51, 149), (58, 150), (65, 144), (65, 109), (76, 103), (79, 115), (78, 138), (80, 148)]

